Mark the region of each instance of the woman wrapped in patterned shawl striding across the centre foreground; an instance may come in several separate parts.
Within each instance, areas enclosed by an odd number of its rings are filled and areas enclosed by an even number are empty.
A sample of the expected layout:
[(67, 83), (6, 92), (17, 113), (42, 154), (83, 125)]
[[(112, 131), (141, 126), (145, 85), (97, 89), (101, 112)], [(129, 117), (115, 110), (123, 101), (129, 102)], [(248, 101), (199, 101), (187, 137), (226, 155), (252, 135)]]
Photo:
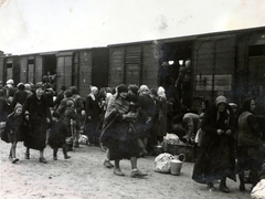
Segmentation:
[(137, 168), (137, 156), (139, 147), (134, 127), (136, 113), (130, 112), (130, 104), (127, 101), (128, 88), (126, 85), (117, 87), (117, 95), (109, 101), (100, 140), (109, 149), (109, 159), (115, 160), (114, 174), (124, 176), (119, 167), (120, 159), (130, 159), (130, 177), (142, 177), (147, 174)]

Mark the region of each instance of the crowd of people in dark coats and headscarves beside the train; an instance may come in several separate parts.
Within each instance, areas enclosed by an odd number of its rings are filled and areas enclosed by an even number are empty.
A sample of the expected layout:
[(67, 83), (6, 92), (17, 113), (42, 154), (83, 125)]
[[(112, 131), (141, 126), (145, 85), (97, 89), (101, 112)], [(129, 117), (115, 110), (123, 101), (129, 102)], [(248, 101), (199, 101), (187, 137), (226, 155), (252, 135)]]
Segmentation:
[[(30, 159), (30, 149), (36, 149), (40, 163), (46, 164), (46, 145), (53, 148), (54, 160), (59, 148), (68, 159), (67, 151), (78, 147), (84, 134), (91, 144), (107, 148), (104, 166), (114, 168), (115, 175), (124, 176), (120, 160), (129, 159), (130, 176), (144, 177), (147, 174), (138, 169), (137, 159), (155, 155), (156, 146), (167, 135), (168, 124), (172, 123), (178, 126), (177, 135), (178, 129), (184, 132), (180, 139), (198, 148), (194, 181), (213, 189), (220, 180), (220, 190), (229, 192), (226, 178), (235, 180), (239, 174), (243, 191), (244, 174), (251, 170), (254, 187), (263, 175), (264, 163), (263, 133), (254, 115), (255, 100), (244, 100), (241, 107), (224, 96), (216, 97), (213, 104), (206, 100), (201, 103), (197, 113), (184, 109), (169, 117), (173, 105), (163, 86), (120, 84), (100, 90), (91, 86), (86, 98), (82, 98), (76, 86), (62, 86), (55, 93), (43, 82), (19, 83), (15, 87), (9, 80), (0, 87), (1, 139), (11, 143), (11, 163), (19, 161), (15, 146), (23, 142), (25, 159)], [(172, 118), (170, 123), (168, 118)]]

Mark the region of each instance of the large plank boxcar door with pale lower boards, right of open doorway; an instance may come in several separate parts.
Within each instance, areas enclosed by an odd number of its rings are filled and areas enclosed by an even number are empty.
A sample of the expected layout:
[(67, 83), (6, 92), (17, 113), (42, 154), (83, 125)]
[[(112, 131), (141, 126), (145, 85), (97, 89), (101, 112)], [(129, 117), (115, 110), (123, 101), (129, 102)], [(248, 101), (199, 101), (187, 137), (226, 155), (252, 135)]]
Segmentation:
[(197, 41), (195, 91), (197, 95), (232, 97), (235, 59), (235, 35), (204, 38)]

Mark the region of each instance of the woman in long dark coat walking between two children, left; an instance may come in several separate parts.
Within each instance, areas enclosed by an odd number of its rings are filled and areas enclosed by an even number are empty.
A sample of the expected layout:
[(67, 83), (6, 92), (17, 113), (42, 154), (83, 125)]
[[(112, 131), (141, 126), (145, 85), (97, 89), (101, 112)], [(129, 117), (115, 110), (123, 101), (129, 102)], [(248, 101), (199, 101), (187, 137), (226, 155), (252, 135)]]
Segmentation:
[(40, 150), (40, 163), (46, 164), (43, 157), (46, 147), (47, 123), (51, 121), (49, 101), (44, 95), (45, 87), (42, 82), (36, 83), (35, 93), (29, 96), (23, 108), (29, 112), (29, 126), (24, 135), (26, 147), (25, 159), (30, 159), (30, 148)]

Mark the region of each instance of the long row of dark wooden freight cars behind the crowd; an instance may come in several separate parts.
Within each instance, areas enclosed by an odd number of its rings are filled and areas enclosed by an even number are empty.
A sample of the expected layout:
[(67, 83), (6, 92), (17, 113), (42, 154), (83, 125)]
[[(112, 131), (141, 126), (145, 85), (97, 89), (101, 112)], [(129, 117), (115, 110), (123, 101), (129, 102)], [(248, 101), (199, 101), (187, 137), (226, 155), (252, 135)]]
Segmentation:
[(15, 84), (36, 83), (44, 75), (56, 74), (57, 91), (62, 85), (75, 85), (85, 97), (91, 85), (146, 84), (156, 88), (162, 62), (170, 64), (173, 86), (187, 60), (192, 65), (194, 107), (199, 100), (214, 102), (220, 94), (236, 103), (253, 95), (264, 106), (264, 27), (20, 56), (1, 53), (0, 77), (2, 82), (13, 78)]

